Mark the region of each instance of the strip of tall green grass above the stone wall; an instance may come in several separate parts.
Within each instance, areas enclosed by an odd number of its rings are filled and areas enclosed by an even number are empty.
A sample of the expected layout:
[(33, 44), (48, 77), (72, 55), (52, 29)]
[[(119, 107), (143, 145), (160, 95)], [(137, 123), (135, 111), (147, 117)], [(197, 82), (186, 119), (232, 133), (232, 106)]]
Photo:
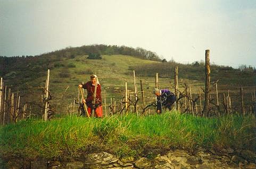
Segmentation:
[(136, 156), (144, 147), (255, 149), (255, 117), (193, 117), (167, 112), (102, 119), (67, 116), (44, 122), (30, 119), (0, 128), (0, 153), (28, 157), (78, 156), (105, 150)]

